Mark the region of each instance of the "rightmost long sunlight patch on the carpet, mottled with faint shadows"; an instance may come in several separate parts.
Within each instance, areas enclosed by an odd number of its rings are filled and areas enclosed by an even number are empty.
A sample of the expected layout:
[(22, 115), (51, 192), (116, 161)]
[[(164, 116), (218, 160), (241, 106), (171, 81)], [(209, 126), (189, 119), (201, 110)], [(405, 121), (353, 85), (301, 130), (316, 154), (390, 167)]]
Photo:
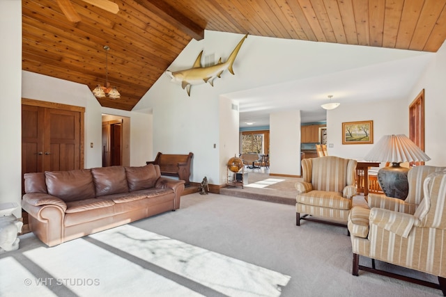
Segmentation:
[(291, 278), (131, 225), (90, 236), (228, 296), (280, 296)]

